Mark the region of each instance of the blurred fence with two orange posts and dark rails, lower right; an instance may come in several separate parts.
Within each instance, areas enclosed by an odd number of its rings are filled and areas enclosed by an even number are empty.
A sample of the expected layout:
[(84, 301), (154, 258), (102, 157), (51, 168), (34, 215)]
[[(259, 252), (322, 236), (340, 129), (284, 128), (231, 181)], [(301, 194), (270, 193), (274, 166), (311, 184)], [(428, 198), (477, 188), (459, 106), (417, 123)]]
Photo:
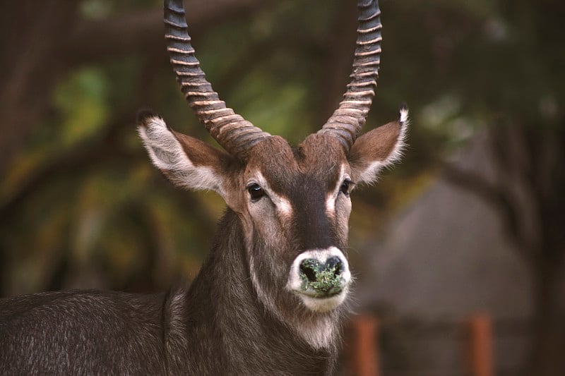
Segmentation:
[[(404, 339), (400, 346), (391, 334), (398, 332)], [(516, 362), (526, 348), (527, 334), (526, 322), (493, 322), (485, 314), (457, 322), (379, 320), (373, 315), (357, 315), (345, 331), (340, 373), (346, 376), (514, 375), (519, 367)], [(420, 358), (409, 354), (417, 346), (410, 348), (407, 343), (415, 340), (420, 341), (420, 353), (422, 348), (426, 350)], [(434, 356), (443, 359), (430, 359)], [(496, 364), (497, 356), (500, 365)], [(397, 366), (400, 363), (412, 365)]]

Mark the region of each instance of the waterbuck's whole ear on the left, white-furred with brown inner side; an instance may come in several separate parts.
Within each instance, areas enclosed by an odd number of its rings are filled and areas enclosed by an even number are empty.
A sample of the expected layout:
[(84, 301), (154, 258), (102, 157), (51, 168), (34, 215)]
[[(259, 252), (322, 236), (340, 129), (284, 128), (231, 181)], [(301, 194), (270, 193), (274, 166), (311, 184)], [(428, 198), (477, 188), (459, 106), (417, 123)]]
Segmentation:
[(175, 186), (215, 190), (224, 196), (224, 171), (230, 154), (172, 131), (160, 116), (150, 111), (138, 114), (138, 133), (153, 164)]

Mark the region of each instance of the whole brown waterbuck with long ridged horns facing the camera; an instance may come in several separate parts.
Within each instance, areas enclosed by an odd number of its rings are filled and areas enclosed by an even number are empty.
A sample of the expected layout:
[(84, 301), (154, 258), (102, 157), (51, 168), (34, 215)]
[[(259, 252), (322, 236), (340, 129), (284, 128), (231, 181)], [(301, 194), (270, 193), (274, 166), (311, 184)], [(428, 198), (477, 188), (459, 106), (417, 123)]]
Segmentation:
[(149, 111), (138, 132), (183, 188), (227, 203), (189, 287), (157, 295), (61, 291), (0, 302), (2, 375), (327, 375), (351, 274), (350, 193), (400, 156), (408, 110), (357, 138), (376, 89), (377, 1), (359, 0), (353, 71), (327, 123), (297, 147), (218, 99), (194, 56), (182, 0), (165, 1), (165, 39), (190, 107), (225, 150)]

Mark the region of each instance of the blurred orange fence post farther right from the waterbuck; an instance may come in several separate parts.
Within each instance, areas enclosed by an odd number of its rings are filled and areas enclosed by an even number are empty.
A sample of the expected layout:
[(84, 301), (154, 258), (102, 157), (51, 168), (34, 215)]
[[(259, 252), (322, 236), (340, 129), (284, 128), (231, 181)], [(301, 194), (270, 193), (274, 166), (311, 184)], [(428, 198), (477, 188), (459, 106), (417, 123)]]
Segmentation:
[(465, 322), (467, 332), (465, 371), (471, 376), (494, 376), (492, 320), (489, 315), (473, 315)]

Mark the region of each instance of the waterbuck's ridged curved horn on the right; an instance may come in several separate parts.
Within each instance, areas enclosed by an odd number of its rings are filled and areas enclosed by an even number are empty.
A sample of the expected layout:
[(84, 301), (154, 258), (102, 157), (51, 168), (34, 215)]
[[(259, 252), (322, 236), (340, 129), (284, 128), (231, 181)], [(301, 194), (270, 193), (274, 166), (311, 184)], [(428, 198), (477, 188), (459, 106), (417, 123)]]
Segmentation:
[(335, 135), (350, 150), (371, 108), (381, 63), (381, 10), (378, 0), (359, 0), (357, 48), (351, 81), (340, 107), (318, 133)]

